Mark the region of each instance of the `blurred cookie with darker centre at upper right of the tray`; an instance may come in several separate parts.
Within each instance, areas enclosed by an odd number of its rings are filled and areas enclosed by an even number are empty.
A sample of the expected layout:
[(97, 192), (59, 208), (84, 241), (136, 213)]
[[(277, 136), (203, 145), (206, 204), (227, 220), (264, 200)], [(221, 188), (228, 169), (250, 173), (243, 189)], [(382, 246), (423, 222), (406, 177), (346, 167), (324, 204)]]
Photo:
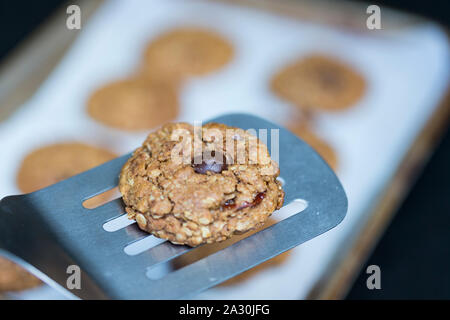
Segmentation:
[(338, 60), (311, 55), (283, 68), (272, 78), (271, 87), (300, 108), (340, 111), (363, 96), (366, 81)]

